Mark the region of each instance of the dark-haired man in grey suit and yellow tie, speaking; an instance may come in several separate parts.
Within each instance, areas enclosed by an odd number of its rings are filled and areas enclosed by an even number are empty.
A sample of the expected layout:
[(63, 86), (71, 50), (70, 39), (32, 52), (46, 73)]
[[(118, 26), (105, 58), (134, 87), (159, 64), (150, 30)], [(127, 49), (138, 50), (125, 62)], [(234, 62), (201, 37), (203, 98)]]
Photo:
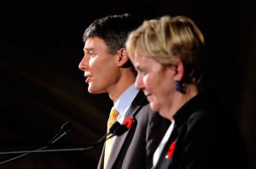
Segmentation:
[(89, 93), (108, 93), (119, 112), (117, 121), (122, 123), (127, 117), (134, 121), (128, 132), (113, 138), (110, 153), (104, 144), (99, 169), (151, 168), (154, 150), (170, 124), (150, 110), (134, 86), (137, 73), (126, 54), (125, 41), (141, 24), (131, 14), (112, 15), (95, 20), (84, 31), (79, 69), (84, 71)]

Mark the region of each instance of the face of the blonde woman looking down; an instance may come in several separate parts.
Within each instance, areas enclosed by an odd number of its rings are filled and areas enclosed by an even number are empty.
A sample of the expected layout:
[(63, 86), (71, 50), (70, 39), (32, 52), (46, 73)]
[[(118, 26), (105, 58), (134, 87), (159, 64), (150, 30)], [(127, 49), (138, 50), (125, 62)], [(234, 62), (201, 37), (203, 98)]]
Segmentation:
[(135, 54), (134, 65), (137, 69), (137, 89), (143, 90), (152, 110), (167, 118), (175, 91), (175, 70), (164, 68), (156, 60), (138, 54)]

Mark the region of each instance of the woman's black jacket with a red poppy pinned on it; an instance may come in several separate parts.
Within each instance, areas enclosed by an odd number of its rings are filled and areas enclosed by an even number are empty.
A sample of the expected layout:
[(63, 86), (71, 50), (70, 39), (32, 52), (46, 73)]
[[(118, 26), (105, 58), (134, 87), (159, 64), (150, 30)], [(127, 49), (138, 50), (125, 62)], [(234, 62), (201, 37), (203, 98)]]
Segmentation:
[[(199, 94), (177, 111), (169, 142), (155, 168), (248, 168), (238, 128), (216, 101), (213, 93)], [(173, 143), (174, 150), (169, 149)], [(169, 158), (168, 150), (173, 150)]]

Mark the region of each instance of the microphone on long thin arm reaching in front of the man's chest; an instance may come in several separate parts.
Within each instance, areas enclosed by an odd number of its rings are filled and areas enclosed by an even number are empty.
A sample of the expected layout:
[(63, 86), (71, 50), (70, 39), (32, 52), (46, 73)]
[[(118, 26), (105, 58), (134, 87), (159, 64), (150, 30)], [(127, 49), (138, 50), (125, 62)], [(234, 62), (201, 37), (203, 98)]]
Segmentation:
[[(113, 136), (120, 136), (126, 131), (128, 131), (132, 126), (133, 119), (127, 118), (124, 123), (121, 125), (118, 121), (115, 121), (112, 127), (109, 128), (108, 133), (104, 134), (96, 144), (90, 144), (89, 146), (82, 148), (71, 148), (71, 149), (36, 149), (36, 150), (21, 150), (21, 151), (9, 151), (9, 152), (0, 152), (0, 155), (10, 155), (10, 154), (19, 154), (19, 153), (46, 153), (46, 152), (64, 152), (64, 151), (84, 151), (88, 149), (93, 149), (97, 145), (102, 144), (109, 138)], [(108, 137), (109, 136), (109, 137)], [(1, 164), (1, 163), (0, 163)]]

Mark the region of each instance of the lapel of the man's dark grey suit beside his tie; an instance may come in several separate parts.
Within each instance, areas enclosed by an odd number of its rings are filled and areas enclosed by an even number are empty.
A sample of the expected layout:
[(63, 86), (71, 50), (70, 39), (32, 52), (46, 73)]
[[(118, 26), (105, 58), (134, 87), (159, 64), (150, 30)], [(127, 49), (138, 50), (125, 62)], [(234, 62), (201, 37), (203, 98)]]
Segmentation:
[[(125, 114), (125, 119), (131, 116), (133, 118), (133, 124), (131, 128), (137, 126), (136, 115), (137, 115), (137, 112), (140, 110), (140, 108), (143, 106), (144, 99), (145, 97), (142, 92), (137, 93), (136, 98), (133, 100), (130, 108), (127, 110)], [(136, 130), (136, 128), (134, 128), (134, 130)], [(117, 160), (119, 152), (121, 151), (125, 143), (125, 139), (127, 138), (127, 135), (130, 132), (131, 132), (131, 129), (128, 132), (125, 132), (124, 134), (122, 134), (121, 136), (115, 138), (114, 145), (113, 145), (114, 148), (112, 149), (109, 155), (107, 169), (113, 168), (114, 162)]]

